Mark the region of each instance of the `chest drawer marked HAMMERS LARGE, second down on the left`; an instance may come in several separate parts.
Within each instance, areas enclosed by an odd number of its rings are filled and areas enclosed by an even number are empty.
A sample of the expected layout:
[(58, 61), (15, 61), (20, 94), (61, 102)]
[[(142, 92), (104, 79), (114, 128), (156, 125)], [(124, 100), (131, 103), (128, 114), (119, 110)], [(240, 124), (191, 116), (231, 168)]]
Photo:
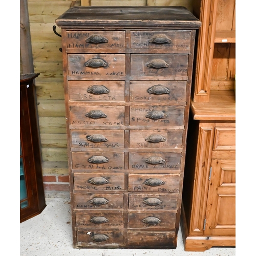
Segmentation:
[(70, 76), (125, 76), (125, 54), (68, 54)]

